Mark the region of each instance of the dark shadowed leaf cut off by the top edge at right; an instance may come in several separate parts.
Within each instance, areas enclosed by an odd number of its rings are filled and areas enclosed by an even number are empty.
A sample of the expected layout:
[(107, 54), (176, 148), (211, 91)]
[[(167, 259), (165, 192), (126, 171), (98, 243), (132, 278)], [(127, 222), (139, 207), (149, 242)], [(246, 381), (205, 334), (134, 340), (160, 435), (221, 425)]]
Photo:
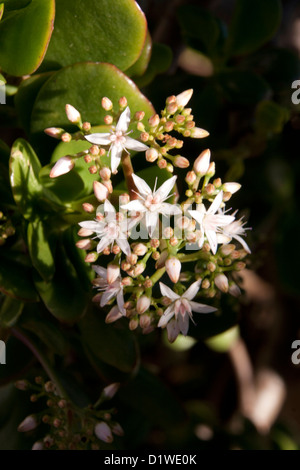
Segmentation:
[(271, 39), (281, 21), (280, 0), (236, 0), (226, 54), (247, 54)]

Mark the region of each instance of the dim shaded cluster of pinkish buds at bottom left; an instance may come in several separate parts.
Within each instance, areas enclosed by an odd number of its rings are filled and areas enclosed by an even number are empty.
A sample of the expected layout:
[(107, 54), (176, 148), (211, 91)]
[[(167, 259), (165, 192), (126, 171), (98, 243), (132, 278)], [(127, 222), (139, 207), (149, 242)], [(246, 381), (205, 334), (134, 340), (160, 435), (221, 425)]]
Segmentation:
[(18, 426), (19, 432), (35, 430), (39, 424), (49, 426), (49, 432), (33, 444), (32, 450), (98, 450), (101, 443), (111, 443), (113, 434), (123, 436), (120, 424), (113, 420), (114, 409), (98, 409), (102, 403), (110, 400), (119, 388), (113, 383), (105, 387), (97, 403), (86, 408), (79, 408), (69, 398), (61, 397), (53, 382), (36, 377), (35, 383), (19, 380), (16, 387), (31, 390), (30, 400), (46, 400), (46, 408), (27, 416)]

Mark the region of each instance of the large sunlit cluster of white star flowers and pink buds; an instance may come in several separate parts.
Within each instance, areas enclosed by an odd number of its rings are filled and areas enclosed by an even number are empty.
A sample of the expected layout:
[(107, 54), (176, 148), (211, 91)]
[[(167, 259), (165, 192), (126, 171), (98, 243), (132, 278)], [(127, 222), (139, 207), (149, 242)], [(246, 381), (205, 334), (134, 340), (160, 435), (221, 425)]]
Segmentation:
[[(184, 144), (178, 134), (184, 138), (208, 136), (195, 126), (191, 109), (186, 107), (191, 96), (192, 90), (170, 96), (161, 116), (155, 114), (145, 123), (143, 111), (131, 119), (126, 98), (119, 100), (115, 113), (113, 103), (105, 97), (102, 107), (108, 114), (104, 123), (110, 130), (104, 133), (90, 133), (91, 125), (82, 123), (80, 113), (67, 105), (69, 120), (92, 146), (84, 155), (61, 158), (50, 173), (56, 177), (70, 171), (75, 159), (83, 156), (92, 163), (90, 172), (97, 174), (94, 195), (100, 204), (83, 204), (89, 220), (79, 223), (78, 235), (83, 238), (77, 246), (88, 251), (86, 261), (93, 263), (93, 284), (99, 291), (94, 300), (101, 307), (110, 306), (106, 321), (127, 317), (130, 329), (140, 326), (143, 333), (166, 327), (170, 341), (179, 333), (187, 334), (189, 320), (194, 322), (193, 312), (217, 310), (197, 300), (210, 303), (221, 293), (239, 295), (236, 273), (245, 267), (244, 258), (250, 253), (242, 218), (226, 208), (240, 184), (215, 178), (209, 149), (193, 162), (174, 155)], [(136, 139), (128, 135), (130, 126), (135, 126), (135, 135), (139, 132)], [(64, 141), (78, 138), (78, 133), (71, 136), (62, 129), (46, 132)], [(150, 185), (134, 173), (130, 151), (143, 152), (147, 162), (155, 162), (170, 176), (163, 172)], [(110, 167), (104, 156), (110, 158)], [(186, 170), (190, 164), (192, 169)], [(111, 175), (120, 166), (128, 192), (117, 201)], [(172, 176), (179, 169), (186, 170), (182, 179)]]

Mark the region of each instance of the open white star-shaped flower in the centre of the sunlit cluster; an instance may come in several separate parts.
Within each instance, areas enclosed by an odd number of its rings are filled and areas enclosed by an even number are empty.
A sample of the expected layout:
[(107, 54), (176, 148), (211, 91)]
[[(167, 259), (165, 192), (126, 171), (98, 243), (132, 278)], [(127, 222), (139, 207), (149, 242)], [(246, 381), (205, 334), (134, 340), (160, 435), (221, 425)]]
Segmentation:
[(135, 174), (132, 175), (132, 178), (139, 191), (137, 194), (140, 199), (130, 201), (128, 204), (121, 206), (121, 208), (145, 214), (146, 226), (150, 237), (152, 237), (155, 228), (158, 226), (159, 214), (166, 216), (181, 214), (181, 209), (178, 206), (164, 202), (171, 196), (169, 196), (169, 193), (175, 184), (177, 176), (172, 176), (157, 190), (154, 187), (153, 192), (142, 178)]

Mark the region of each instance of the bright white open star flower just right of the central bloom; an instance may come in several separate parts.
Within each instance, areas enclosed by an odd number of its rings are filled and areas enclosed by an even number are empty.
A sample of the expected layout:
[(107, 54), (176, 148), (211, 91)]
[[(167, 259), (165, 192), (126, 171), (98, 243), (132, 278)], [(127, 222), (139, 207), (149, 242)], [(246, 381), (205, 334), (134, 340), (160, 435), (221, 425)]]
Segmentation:
[(223, 192), (220, 191), (215, 197), (210, 207), (206, 210), (204, 204), (199, 204), (197, 210), (189, 211), (190, 215), (200, 224), (202, 235), (199, 240), (199, 247), (201, 248), (204, 243), (204, 235), (213, 254), (216, 254), (218, 246), (217, 232), (220, 227), (229, 225), (234, 221), (233, 215), (225, 215), (216, 212), (220, 209), (223, 199)]

